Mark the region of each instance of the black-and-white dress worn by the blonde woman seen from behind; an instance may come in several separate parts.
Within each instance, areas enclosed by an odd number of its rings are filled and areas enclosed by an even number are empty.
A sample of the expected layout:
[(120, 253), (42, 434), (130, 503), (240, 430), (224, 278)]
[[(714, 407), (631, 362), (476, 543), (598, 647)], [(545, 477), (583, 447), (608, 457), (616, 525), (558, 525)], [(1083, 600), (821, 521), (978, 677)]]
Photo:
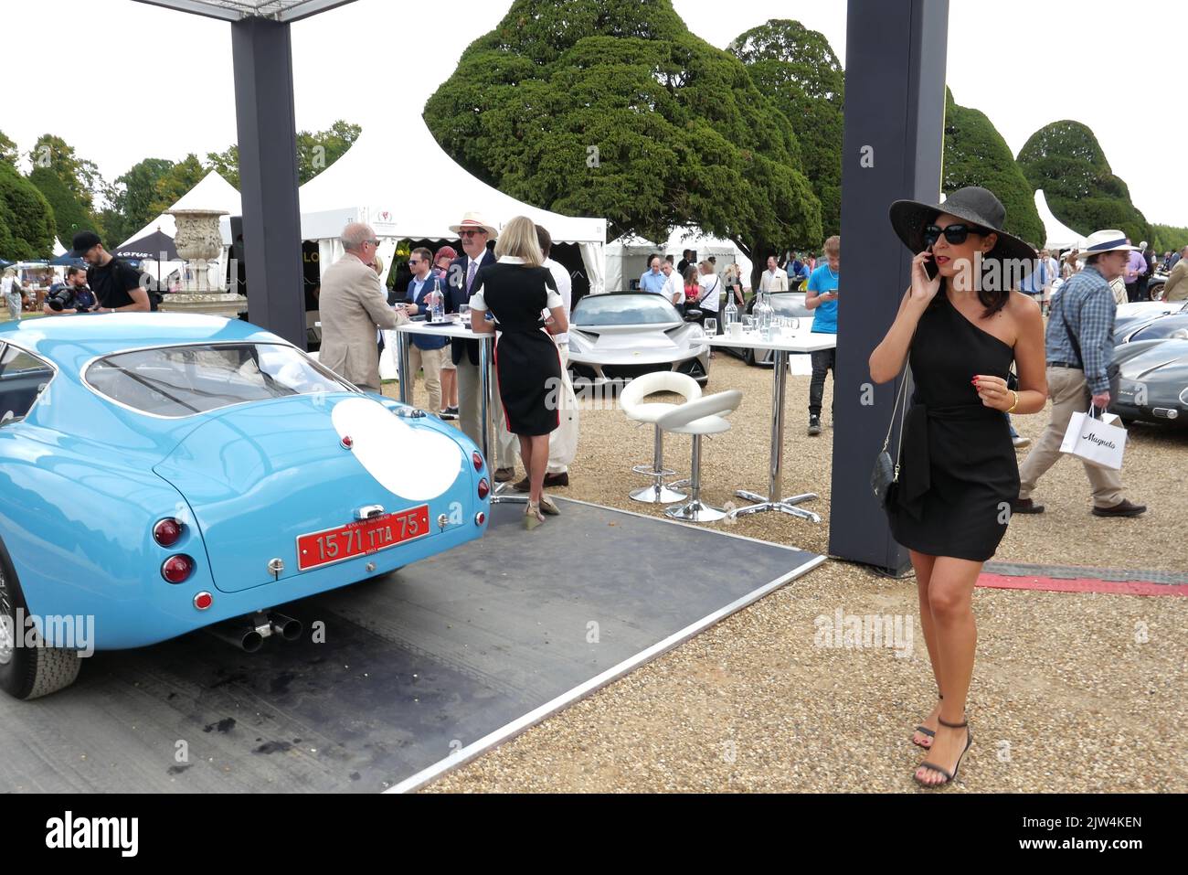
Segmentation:
[(495, 317), (495, 378), (507, 430), (550, 434), (560, 424), (561, 353), (542, 313), (562, 300), (548, 267), (504, 256), (474, 277), (470, 307)]

